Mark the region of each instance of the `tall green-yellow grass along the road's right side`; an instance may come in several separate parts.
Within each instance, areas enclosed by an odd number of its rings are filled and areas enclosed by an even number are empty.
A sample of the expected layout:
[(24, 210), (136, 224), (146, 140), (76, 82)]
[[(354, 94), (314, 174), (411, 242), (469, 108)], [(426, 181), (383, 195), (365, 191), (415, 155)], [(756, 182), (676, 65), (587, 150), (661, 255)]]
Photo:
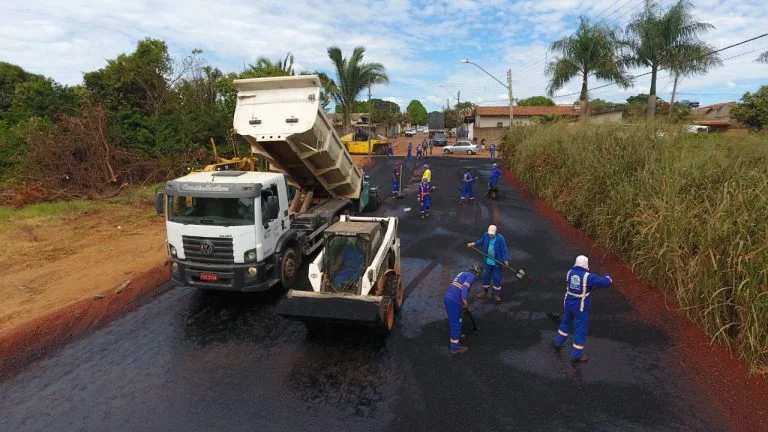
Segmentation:
[(573, 225), (768, 371), (768, 139), (519, 127), (507, 166)]

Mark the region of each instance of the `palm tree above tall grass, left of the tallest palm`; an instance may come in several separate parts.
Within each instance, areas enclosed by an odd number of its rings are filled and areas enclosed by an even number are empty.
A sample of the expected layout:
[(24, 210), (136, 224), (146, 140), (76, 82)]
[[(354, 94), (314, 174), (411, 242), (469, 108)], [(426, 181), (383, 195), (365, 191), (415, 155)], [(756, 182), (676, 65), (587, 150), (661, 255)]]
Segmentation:
[(618, 55), (618, 42), (613, 30), (598, 24), (589, 24), (585, 17), (580, 17), (576, 34), (552, 42), (549, 50), (560, 54), (547, 65), (550, 75), (547, 93), (554, 96), (572, 78), (581, 78), (582, 114), (588, 114), (589, 76), (612, 80), (623, 88), (629, 87), (631, 79), (627, 76)]

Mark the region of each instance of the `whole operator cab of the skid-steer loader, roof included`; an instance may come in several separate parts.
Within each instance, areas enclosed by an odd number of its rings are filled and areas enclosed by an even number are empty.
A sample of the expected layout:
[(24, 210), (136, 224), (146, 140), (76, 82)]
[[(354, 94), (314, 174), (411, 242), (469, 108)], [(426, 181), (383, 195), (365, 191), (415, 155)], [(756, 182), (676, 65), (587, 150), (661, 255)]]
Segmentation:
[(377, 223), (336, 222), (325, 230), (324, 284), (329, 292), (359, 294), (362, 276), (381, 246)]

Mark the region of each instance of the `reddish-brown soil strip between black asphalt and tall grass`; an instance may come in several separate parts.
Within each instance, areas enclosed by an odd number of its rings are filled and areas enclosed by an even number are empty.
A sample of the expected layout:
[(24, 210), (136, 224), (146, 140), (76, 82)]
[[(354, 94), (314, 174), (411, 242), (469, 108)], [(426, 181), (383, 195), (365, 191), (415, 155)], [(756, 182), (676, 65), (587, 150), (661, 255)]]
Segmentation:
[(590, 261), (611, 273), (614, 286), (640, 316), (663, 329), (672, 338), (672, 356), (689, 371), (704, 393), (730, 420), (734, 430), (768, 430), (768, 380), (750, 375), (747, 366), (727, 347), (711, 344), (710, 338), (678, 311), (678, 305), (663, 292), (640, 281), (615, 254), (596, 245), (583, 231), (571, 226), (545, 202), (525, 191), (508, 170), (504, 176), (534, 200), (539, 214), (554, 223), (573, 245), (588, 252)]

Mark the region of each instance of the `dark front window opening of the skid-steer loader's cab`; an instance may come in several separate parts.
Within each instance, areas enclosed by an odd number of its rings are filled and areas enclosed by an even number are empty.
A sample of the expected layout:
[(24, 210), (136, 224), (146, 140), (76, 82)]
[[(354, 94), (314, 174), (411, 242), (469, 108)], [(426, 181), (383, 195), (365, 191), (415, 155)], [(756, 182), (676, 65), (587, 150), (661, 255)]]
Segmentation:
[(368, 242), (359, 237), (333, 236), (326, 244), (325, 272), (333, 291), (355, 292), (365, 272)]

